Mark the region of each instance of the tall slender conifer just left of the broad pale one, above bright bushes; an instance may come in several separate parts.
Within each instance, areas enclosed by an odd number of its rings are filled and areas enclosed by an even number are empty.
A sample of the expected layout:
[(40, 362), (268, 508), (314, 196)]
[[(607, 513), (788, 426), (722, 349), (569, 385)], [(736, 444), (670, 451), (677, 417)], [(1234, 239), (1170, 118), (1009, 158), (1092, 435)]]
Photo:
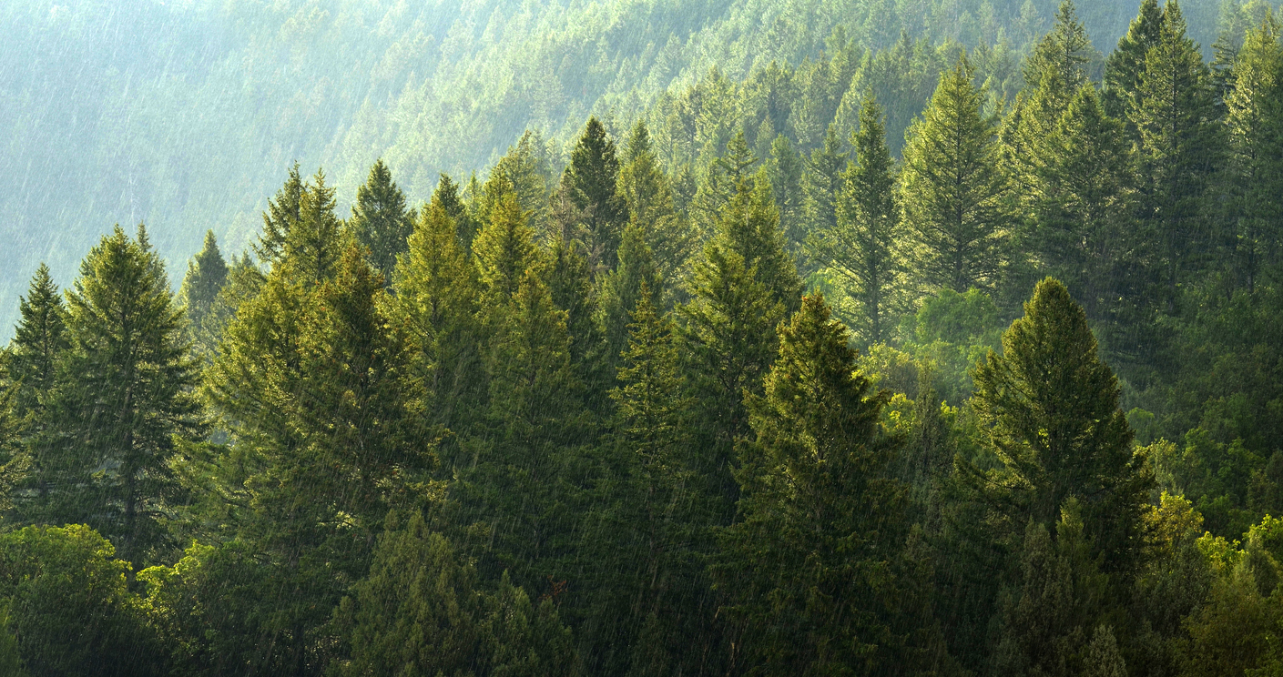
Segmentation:
[(815, 256), (835, 268), (860, 303), (860, 338), (887, 338), (894, 308), (892, 294), (903, 272), (896, 168), (887, 149), (881, 108), (869, 96), (860, 109), (860, 130), (852, 135), (856, 162), (843, 173), (838, 223), (811, 240)]

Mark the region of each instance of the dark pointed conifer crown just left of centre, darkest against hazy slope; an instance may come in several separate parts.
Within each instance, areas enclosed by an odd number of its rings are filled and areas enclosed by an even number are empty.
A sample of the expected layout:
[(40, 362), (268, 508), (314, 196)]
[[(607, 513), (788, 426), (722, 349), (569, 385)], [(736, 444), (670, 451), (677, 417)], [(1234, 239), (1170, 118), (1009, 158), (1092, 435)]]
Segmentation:
[(589, 118), (562, 174), (562, 191), (580, 214), (576, 237), (594, 271), (615, 268), (615, 253), (627, 221), (627, 208), (616, 192), (618, 182), (615, 141), (600, 121)]

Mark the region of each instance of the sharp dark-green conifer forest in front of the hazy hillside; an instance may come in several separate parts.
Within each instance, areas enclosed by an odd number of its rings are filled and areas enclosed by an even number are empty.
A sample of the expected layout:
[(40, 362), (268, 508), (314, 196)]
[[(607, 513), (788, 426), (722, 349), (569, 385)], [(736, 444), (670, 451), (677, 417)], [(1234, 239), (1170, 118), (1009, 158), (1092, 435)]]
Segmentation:
[(144, 224), (38, 265), (0, 674), (1283, 674), (1283, 40), (1227, 8), (837, 29), (421, 203), (293, 163), (177, 291)]

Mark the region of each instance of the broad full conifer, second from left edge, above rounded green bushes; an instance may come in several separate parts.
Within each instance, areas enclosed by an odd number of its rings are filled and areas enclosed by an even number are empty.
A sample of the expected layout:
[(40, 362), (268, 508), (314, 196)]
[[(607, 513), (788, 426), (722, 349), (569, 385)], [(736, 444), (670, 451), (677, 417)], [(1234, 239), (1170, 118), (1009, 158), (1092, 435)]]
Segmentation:
[(81, 263), (65, 335), (36, 442), (45, 500), (31, 517), (87, 522), (137, 565), (167, 545), (176, 439), (204, 432), (182, 309), (141, 226), (133, 240), (117, 227)]

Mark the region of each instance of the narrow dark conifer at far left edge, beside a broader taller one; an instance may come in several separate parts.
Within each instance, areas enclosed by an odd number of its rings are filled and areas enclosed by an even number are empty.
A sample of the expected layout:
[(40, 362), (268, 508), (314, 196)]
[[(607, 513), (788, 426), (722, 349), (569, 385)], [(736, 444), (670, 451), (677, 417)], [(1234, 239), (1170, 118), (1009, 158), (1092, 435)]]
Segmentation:
[(24, 418), (40, 409), (56, 383), (55, 367), (67, 350), (67, 309), (49, 267), (40, 264), (27, 296), (18, 304), (21, 319), (4, 362), (4, 382), (15, 387), (13, 413)]

